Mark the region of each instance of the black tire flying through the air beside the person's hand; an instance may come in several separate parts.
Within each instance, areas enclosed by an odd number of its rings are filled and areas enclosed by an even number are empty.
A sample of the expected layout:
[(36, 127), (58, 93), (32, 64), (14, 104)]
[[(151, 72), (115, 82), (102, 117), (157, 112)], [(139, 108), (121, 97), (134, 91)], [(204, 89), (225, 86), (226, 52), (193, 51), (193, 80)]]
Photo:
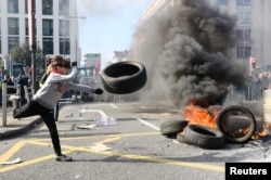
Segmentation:
[(116, 94), (131, 93), (146, 83), (146, 69), (140, 62), (118, 62), (105, 67), (101, 78), (106, 91)]

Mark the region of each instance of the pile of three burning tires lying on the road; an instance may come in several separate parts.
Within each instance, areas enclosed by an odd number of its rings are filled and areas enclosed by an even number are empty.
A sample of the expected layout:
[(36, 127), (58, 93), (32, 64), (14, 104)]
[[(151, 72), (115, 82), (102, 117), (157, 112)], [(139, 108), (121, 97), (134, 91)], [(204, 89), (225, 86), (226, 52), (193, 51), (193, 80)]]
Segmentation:
[(216, 118), (217, 128), (189, 124), (188, 120), (168, 120), (160, 125), (160, 133), (181, 143), (203, 149), (220, 149), (225, 142), (246, 143), (255, 133), (256, 119), (246, 107), (232, 105), (222, 108)]

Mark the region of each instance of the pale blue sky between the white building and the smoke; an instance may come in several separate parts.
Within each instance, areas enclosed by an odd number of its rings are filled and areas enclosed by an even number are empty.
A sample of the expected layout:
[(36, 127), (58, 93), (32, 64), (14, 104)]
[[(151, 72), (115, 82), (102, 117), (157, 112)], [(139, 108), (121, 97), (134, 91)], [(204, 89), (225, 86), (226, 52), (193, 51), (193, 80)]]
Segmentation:
[(79, 46), (87, 53), (102, 54), (102, 68), (114, 51), (129, 50), (132, 35), (153, 0), (77, 0)]

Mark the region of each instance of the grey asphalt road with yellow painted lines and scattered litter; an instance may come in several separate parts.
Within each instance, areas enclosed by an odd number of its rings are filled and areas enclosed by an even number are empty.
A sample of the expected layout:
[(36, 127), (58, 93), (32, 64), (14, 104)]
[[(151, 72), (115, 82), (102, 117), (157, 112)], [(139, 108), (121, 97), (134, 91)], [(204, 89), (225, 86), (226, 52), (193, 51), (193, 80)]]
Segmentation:
[[(81, 129), (101, 117), (112, 117), (116, 125)], [(54, 160), (42, 125), (26, 136), (0, 142), (0, 159), (22, 160), (0, 165), (0, 179), (220, 180), (224, 179), (225, 162), (271, 160), (270, 137), (205, 150), (160, 134), (162, 123), (181, 118), (166, 103), (65, 105), (57, 127), (63, 152), (74, 162)]]

